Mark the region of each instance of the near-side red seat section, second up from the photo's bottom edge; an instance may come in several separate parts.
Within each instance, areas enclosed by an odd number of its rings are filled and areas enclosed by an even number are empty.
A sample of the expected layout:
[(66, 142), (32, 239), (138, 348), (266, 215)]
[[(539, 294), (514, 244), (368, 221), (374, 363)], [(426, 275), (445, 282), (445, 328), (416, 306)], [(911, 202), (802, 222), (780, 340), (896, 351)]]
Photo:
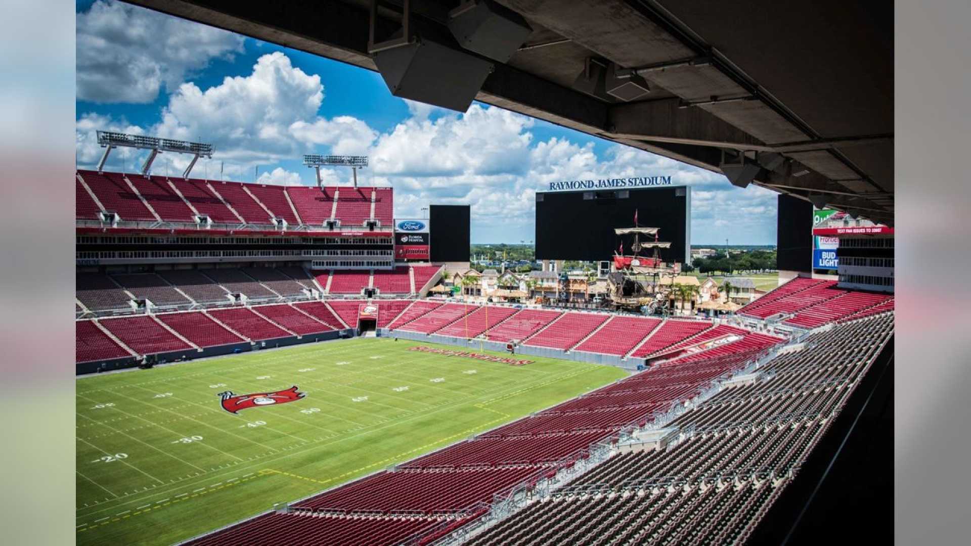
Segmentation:
[(294, 504), (315, 510), (457, 510), (509, 489), (537, 468), (380, 472)]

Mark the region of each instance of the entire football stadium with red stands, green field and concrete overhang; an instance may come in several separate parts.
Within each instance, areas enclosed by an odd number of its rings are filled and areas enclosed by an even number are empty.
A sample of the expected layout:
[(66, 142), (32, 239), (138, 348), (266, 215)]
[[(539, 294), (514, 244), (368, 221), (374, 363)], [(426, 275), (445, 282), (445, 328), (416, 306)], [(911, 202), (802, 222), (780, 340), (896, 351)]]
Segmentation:
[[(886, 509), (888, 462), (867, 446), (886, 441), (893, 376), (892, 112), (850, 96), (878, 77), (815, 77), (889, 61), (800, 56), (833, 17), (799, 7), (806, 24), (755, 51), (740, 35), (781, 8), (132, 4), (377, 71), (397, 97), (478, 100), (777, 191), (778, 283), (669, 305), (691, 190), (618, 175), (535, 192), (552, 297), (485, 281), (463, 297), (476, 210), (401, 215), (402, 187), (358, 182), (367, 156), (303, 154), (317, 185), (263, 184), (193, 168), (218, 157), (209, 135), (98, 128), (100, 161), (74, 173), (78, 544), (871, 536), (822, 527)], [(767, 70), (783, 65), (824, 83)], [(144, 160), (111, 166), (131, 150)], [(159, 154), (185, 168), (153, 169)], [(557, 299), (563, 259), (606, 264), (613, 299)]]

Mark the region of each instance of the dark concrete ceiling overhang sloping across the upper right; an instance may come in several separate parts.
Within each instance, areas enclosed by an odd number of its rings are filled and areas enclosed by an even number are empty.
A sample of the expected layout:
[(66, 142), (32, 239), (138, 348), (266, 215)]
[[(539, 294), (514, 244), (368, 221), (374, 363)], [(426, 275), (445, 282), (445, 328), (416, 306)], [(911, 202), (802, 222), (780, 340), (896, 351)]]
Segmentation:
[[(369, 0), (128, 1), (376, 69), (367, 53)], [(496, 63), (478, 100), (714, 172), (722, 150), (783, 154), (782, 167), (762, 169), (753, 183), (821, 194), (831, 207), (893, 222), (892, 5), (497, 2), (533, 32)], [(413, 26), (458, 49), (445, 27), (458, 3), (411, 0)], [(379, 17), (392, 29), (400, 16)], [(573, 89), (587, 57), (647, 68), (641, 74), (652, 91), (624, 103)]]

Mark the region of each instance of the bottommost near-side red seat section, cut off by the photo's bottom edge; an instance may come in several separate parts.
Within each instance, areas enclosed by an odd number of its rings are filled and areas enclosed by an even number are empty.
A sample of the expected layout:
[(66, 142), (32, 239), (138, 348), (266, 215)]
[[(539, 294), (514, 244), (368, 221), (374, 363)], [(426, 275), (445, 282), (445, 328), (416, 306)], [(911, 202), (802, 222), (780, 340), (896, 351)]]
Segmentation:
[[(375, 518), (271, 512), (191, 540), (192, 546), (393, 546), (440, 526), (433, 518)], [(459, 521), (458, 523), (461, 523)]]

